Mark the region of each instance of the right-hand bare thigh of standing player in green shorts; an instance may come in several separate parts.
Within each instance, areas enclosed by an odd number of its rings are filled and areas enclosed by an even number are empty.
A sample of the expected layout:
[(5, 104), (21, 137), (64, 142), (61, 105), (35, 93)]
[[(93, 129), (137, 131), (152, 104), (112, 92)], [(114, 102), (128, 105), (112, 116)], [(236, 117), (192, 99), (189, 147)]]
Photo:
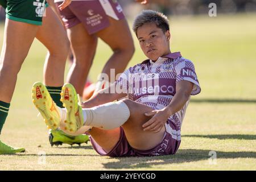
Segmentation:
[(51, 7), (46, 8), (46, 16), (40, 26), (36, 38), (48, 48), (50, 52), (67, 55), (69, 40), (67, 32)]

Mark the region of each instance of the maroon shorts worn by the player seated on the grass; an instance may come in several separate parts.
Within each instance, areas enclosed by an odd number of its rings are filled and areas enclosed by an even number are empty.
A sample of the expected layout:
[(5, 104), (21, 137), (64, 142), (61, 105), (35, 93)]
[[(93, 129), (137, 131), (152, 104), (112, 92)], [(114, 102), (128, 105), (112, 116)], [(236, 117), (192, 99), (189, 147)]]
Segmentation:
[[(168, 128), (168, 129), (167, 129)], [(177, 127), (174, 123), (168, 122), (166, 125), (166, 133), (162, 142), (158, 146), (147, 151), (139, 151), (130, 146), (126, 139), (125, 132), (123, 128), (120, 127), (120, 139), (115, 144), (112, 151), (107, 153), (104, 149), (92, 138), (92, 146), (94, 150), (100, 155), (110, 156), (110, 157), (125, 157), (125, 156), (159, 156), (159, 155), (171, 155), (175, 154), (180, 146), (180, 130), (176, 130)]]

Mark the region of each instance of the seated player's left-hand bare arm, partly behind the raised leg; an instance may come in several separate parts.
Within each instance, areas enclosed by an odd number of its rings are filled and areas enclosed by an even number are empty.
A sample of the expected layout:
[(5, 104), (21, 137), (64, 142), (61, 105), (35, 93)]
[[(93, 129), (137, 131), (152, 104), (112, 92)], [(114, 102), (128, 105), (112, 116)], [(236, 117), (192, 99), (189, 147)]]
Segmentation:
[(82, 107), (90, 108), (101, 104), (106, 104), (108, 102), (113, 102), (127, 96), (127, 94), (124, 92), (117, 93), (115, 89), (116, 85), (113, 84), (109, 88), (96, 92), (96, 94), (93, 94), (93, 96), (88, 101), (83, 103)]

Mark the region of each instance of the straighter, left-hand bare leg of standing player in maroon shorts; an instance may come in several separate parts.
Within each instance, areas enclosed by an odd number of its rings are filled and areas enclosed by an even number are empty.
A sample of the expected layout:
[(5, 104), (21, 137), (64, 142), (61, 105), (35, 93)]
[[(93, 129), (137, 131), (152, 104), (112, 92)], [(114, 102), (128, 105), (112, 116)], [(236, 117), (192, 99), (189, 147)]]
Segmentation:
[(82, 96), (86, 78), (96, 52), (97, 37), (89, 35), (81, 23), (68, 28), (67, 32), (74, 56), (67, 82), (75, 86), (77, 93)]

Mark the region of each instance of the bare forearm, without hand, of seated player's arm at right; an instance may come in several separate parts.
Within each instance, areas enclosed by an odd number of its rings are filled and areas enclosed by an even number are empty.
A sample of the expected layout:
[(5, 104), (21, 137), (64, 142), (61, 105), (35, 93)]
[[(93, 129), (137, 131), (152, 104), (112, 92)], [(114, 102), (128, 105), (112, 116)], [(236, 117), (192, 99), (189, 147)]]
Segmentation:
[(172, 98), (170, 104), (164, 109), (168, 113), (168, 115), (175, 114), (177, 111), (183, 108), (186, 102), (189, 100), (190, 94), (188, 93), (176, 93)]

